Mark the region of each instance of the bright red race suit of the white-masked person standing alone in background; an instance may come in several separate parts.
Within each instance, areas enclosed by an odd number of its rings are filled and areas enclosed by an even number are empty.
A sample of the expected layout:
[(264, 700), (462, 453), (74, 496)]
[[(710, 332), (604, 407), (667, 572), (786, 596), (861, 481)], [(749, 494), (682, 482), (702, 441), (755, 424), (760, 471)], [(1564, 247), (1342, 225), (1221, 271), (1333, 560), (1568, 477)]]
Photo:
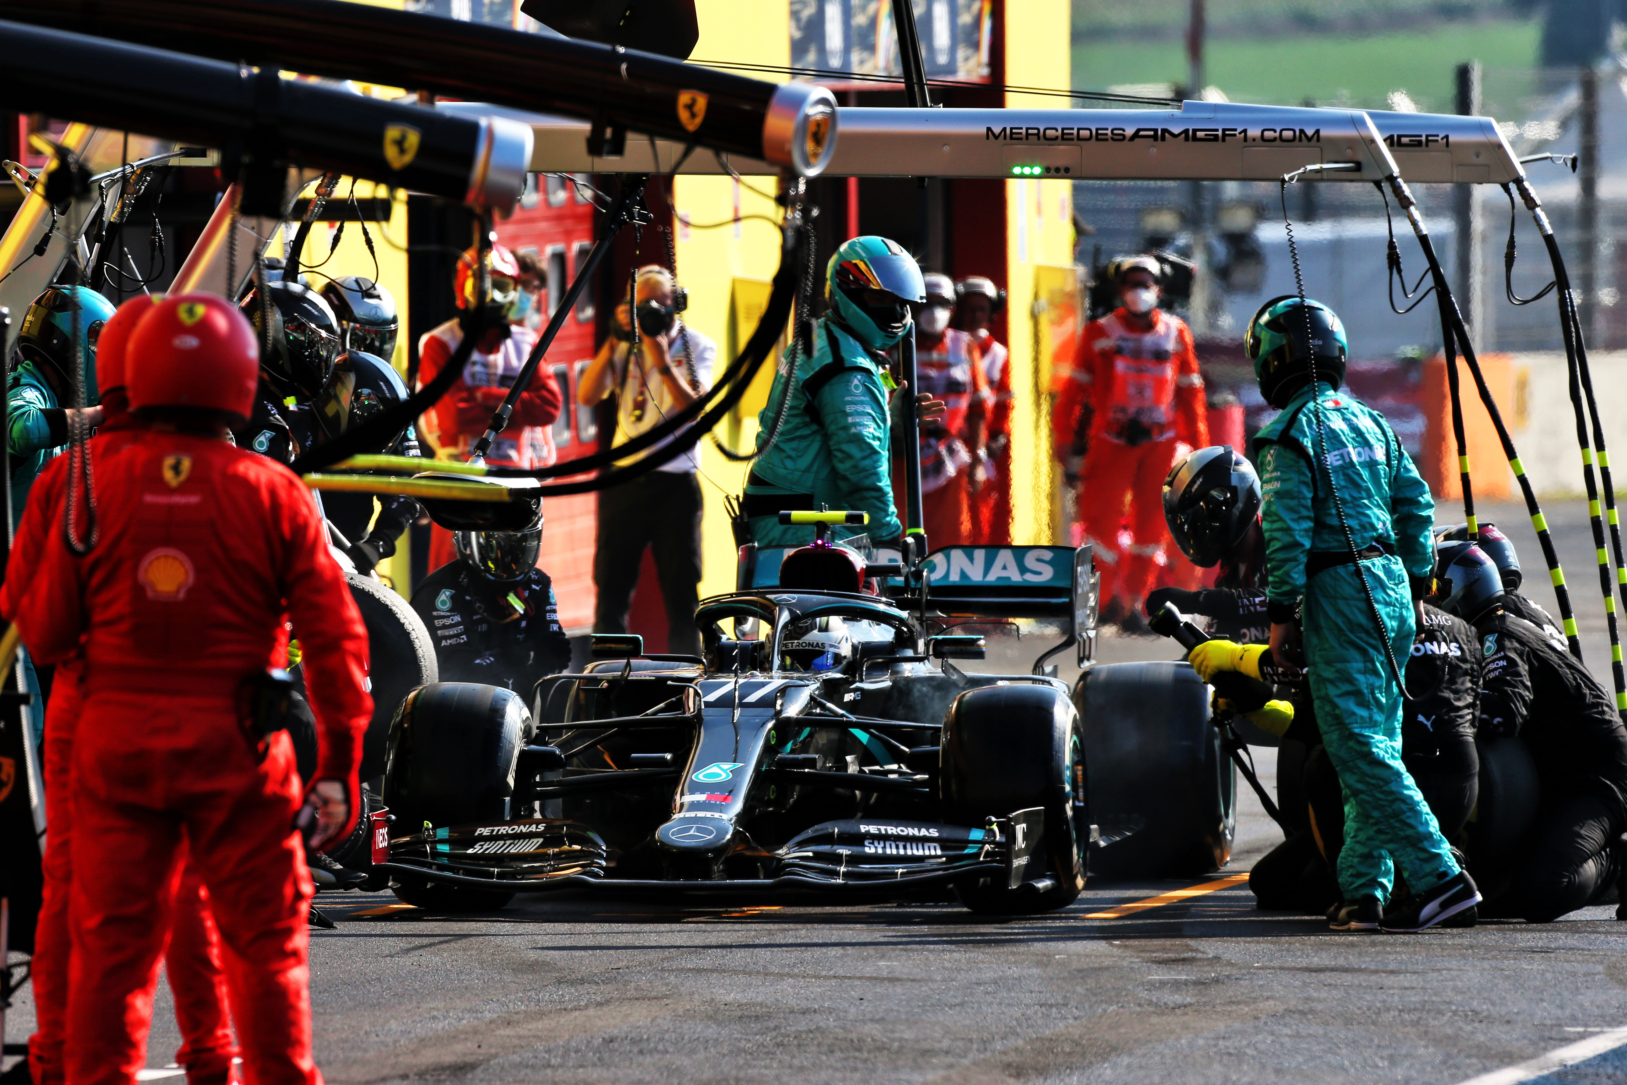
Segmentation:
[[(1085, 446), (1079, 517), (1095, 547), (1101, 600), (1121, 595), (1139, 608), (1157, 573), (1168, 529), (1163, 478), (1176, 444), (1209, 444), (1204, 377), (1186, 322), (1152, 311), (1152, 330), (1137, 332), (1118, 309), (1085, 325), (1074, 368), (1056, 405), (1058, 457)], [(1129, 506), (1134, 543), (1116, 550)]]

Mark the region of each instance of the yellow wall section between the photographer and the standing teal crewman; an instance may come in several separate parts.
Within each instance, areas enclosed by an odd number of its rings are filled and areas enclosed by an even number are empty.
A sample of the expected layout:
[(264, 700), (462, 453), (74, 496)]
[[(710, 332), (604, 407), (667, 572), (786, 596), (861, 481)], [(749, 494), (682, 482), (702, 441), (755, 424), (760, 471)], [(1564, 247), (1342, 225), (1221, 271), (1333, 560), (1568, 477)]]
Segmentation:
[[(700, 0), (695, 5), (700, 16), (701, 39), (695, 57), (704, 60), (752, 60), (757, 63), (791, 63), (791, 11), (784, 3), (758, 0)], [(696, 151), (704, 153), (704, 151)], [(745, 184), (768, 197), (776, 187), (774, 177), (745, 177)], [(745, 220), (735, 226), (731, 220), (739, 198), (740, 215), (774, 218), (778, 208), (771, 198), (735, 187), (732, 177), (678, 177), (674, 184), (674, 205), (690, 221), (677, 233), (678, 278), (690, 291), (690, 309), (685, 314), (696, 330), (718, 342), (718, 368), (732, 361), (729, 356), (729, 312), (735, 280), (768, 281), (779, 267), (779, 231), (761, 220)], [(701, 229), (721, 223), (713, 229)], [(742, 329), (742, 337), (750, 329)], [(768, 379), (770, 363), (763, 366)], [(750, 399), (750, 397), (748, 397)], [(735, 449), (750, 449), (757, 439), (755, 412), (742, 412), (739, 425), (722, 425), (718, 436)], [(729, 514), (722, 508), (726, 493), (745, 488), (745, 465), (724, 459), (711, 439), (701, 441), (701, 493), (706, 499), (706, 517), (701, 525), (704, 564), (701, 573), (701, 597), (734, 590), (735, 548), (729, 530)]]

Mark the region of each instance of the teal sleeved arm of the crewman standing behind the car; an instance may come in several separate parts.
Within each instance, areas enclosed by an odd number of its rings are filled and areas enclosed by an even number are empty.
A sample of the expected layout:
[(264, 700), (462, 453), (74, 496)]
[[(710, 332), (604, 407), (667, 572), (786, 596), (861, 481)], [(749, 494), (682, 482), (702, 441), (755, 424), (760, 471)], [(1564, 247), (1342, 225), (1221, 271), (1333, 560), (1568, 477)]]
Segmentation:
[(872, 540), (898, 538), (903, 525), (893, 504), (887, 389), (880, 374), (864, 364), (846, 368), (818, 387), (814, 405), (830, 446), (843, 504), (870, 514), (867, 532)]

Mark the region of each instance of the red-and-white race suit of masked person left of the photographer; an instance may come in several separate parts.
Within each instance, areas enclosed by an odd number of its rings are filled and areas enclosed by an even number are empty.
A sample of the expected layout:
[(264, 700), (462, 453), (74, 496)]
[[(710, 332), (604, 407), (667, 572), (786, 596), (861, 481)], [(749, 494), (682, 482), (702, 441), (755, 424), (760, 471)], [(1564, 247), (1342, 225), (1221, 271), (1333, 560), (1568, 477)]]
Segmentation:
[[(441, 402), (425, 412), (425, 436), (434, 446), (436, 459), (467, 460), (469, 449), (486, 431), (491, 412), (503, 405), (503, 397), (514, 387), (530, 348), (537, 345), (537, 333), (517, 324), (508, 325), (508, 337), (503, 337), (503, 329), (486, 332), (464, 363), (464, 374), (452, 382)], [(434, 381), (462, 342), (464, 332), (456, 319), (425, 332), (418, 340), (418, 387)], [(560, 416), (560, 384), (553, 379), (553, 371), (537, 366), (530, 386), (514, 403), (508, 428), (491, 442), (486, 462), (526, 468), (553, 464), (550, 426)], [(434, 527), (430, 532), (430, 571), (456, 556), (452, 534)]]

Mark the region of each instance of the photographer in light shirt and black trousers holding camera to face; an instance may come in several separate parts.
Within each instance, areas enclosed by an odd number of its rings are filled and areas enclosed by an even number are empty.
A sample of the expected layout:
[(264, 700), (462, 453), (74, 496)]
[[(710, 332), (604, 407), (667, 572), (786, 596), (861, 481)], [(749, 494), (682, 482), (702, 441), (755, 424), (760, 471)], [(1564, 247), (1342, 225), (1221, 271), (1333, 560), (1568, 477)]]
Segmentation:
[[(680, 319), (688, 294), (672, 273), (656, 264), (638, 268), (633, 281), (635, 312), (623, 301), (610, 335), (582, 369), (576, 402), (592, 407), (612, 392), (615, 444), (646, 433), (683, 410), (711, 387), (718, 343)], [(638, 320), (638, 356), (633, 356), (633, 320)], [(672, 444), (677, 434), (620, 460), (636, 464)], [(680, 452), (638, 478), (599, 493), (599, 538), (594, 548), (594, 633), (626, 633), (633, 589), (644, 564), (644, 550), (656, 561), (656, 581), (667, 612), (667, 651), (701, 654), (695, 628), (695, 604), (701, 584), (701, 483), (695, 449)]]

